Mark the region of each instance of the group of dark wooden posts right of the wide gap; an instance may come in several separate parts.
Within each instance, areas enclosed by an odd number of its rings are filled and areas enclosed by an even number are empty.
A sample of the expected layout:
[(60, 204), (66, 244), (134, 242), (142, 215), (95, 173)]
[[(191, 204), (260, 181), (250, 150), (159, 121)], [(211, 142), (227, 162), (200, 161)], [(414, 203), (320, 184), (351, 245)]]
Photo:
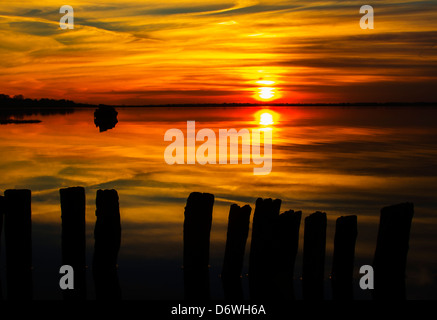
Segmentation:
[[(185, 297), (210, 298), (209, 241), (214, 196), (192, 193), (185, 207), (184, 283)], [(259, 301), (295, 299), (293, 277), (299, 245), (301, 211), (280, 214), (280, 199), (257, 199), (253, 214), (249, 253), (249, 296)], [(251, 207), (231, 205), (227, 240), (221, 273), (225, 299), (243, 299), (242, 267), (249, 233)], [(405, 270), (412, 203), (401, 203), (381, 210), (373, 260), (374, 299), (406, 298)], [(315, 212), (305, 218), (302, 297), (324, 299), (324, 266), (327, 217)], [(353, 270), (357, 216), (342, 216), (336, 221), (331, 270), (332, 297), (353, 299)]]

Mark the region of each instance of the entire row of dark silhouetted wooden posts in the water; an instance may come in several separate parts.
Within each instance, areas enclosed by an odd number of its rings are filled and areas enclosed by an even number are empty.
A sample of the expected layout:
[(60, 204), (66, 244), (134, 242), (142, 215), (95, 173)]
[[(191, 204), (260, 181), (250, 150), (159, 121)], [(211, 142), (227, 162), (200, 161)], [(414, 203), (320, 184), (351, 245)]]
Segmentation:
[[(74, 290), (64, 299), (84, 300), (86, 292), (85, 189), (60, 189), (62, 264), (74, 269)], [(189, 195), (183, 225), (184, 294), (187, 300), (210, 299), (209, 251), (214, 195)], [(298, 252), (301, 211), (280, 214), (281, 200), (257, 199), (249, 254), (251, 300), (294, 299), (293, 277)], [(242, 300), (242, 269), (252, 208), (231, 205), (221, 272), (224, 297)], [(381, 210), (373, 261), (375, 299), (405, 299), (405, 269), (414, 207), (402, 203)], [(3, 219), (4, 217), (4, 219)], [(0, 235), (5, 225), (7, 299), (32, 299), (31, 191), (6, 190), (0, 196)], [(324, 298), (327, 217), (315, 212), (305, 218), (302, 296)], [(353, 299), (357, 217), (336, 221), (331, 283), (334, 299)], [(96, 299), (119, 300), (117, 258), (121, 243), (116, 190), (98, 190), (92, 274)], [(0, 290), (1, 294), (1, 290)], [(3, 298), (3, 297), (0, 297)]]

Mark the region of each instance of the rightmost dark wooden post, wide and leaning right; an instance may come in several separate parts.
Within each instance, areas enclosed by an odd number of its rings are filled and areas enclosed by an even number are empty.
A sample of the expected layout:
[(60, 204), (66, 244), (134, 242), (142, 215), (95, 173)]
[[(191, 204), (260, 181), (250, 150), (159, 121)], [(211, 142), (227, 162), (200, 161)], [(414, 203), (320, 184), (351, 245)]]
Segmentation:
[(412, 203), (381, 209), (378, 238), (373, 260), (376, 300), (405, 300), (405, 269), (409, 249)]

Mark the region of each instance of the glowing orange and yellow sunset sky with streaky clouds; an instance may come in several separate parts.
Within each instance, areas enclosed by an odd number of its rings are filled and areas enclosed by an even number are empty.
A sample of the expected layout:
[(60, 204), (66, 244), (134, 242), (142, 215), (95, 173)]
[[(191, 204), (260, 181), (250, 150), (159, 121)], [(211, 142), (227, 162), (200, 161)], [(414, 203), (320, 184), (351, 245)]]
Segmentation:
[[(62, 30), (62, 5), (75, 28)], [(363, 30), (362, 5), (375, 10)], [(435, 101), (437, 1), (2, 1), (0, 93), (106, 104)], [(264, 88), (264, 89), (262, 89)]]

